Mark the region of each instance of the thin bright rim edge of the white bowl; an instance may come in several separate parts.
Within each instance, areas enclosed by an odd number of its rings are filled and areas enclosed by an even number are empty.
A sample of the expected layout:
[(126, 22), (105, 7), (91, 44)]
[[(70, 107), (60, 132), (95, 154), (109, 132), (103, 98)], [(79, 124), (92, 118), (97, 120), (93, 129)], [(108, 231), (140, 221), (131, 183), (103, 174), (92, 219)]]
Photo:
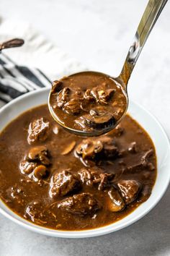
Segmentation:
[[(5, 106), (1, 107), (1, 109), (0, 109), (0, 116), (1, 116), (1, 114), (7, 108), (10, 108), (11, 106), (13, 106), (14, 104), (16, 104), (19, 101), (23, 101), (24, 98), (29, 98), (31, 95), (37, 95), (39, 93), (46, 93), (46, 92), (48, 92), (48, 90), (50, 91), (50, 88), (40, 88), (38, 90), (33, 90), (33, 91), (29, 92), (29, 93), (21, 95), (18, 98), (15, 98), (13, 101), (10, 101)], [(47, 99), (47, 101), (48, 101), (48, 99)], [(142, 109), (142, 111), (145, 111), (148, 114), (148, 116), (151, 116), (153, 121), (156, 122), (156, 124), (158, 125), (158, 128), (160, 129), (162, 135), (164, 135), (164, 138), (166, 139), (167, 146), (168, 146), (169, 153), (170, 153), (169, 137), (166, 135), (166, 132), (165, 132), (164, 128), (161, 126), (161, 124), (159, 123), (159, 121), (156, 118), (156, 116), (151, 114), (150, 111), (146, 110), (146, 108), (144, 108), (143, 106), (140, 106), (140, 104), (135, 103), (134, 101), (130, 101), (130, 102), (135, 104), (135, 106), (138, 106), (140, 109)], [(40, 104), (37, 104), (37, 106), (40, 106)], [(27, 108), (27, 109), (29, 109), (29, 108)], [(7, 124), (9, 124), (9, 122)], [(4, 127), (6, 127), (6, 125)], [(3, 129), (4, 129), (4, 127), (3, 127)], [(145, 129), (145, 127), (144, 127), (144, 129)], [(156, 181), (157, 181), (157, 178), (156, 178)], [(9, 209), (9, 212), (12, 212), (14, 214), (14, 216), (12, 216), (9, 213), (7, 213), (4, 209), (1, 208), (1, 206), (0, 206), (0, 213), (3, 216), (5, 216), (6, 218), (9, 218), (11, 221), (14, 221), (14, 223), (19, 224), (19, 226), (23, 226), (24, 228), (29, 229), (30, 231), (35, 231), (35, 232), (37, 232), (39, 234), (44, 234), (44, 235), (48, 235), (48, 236), (55, 236), (55, 237), (61, 237), (61, 238), (86, 238), (86, 237), (92, 237), (92, 236), (102, 236), (104, 234), (109, 234), (109, 233), (118, 231), (120, 229), (124, 229), (125, 227), (130, 226), (131, 224), (135, 223), (136, 221), (140, 220), (140, 218), (145, 216), (161, 200), (161, 197), (163, 197), (164, 193), (166, 192), (166, 189), (169, 186), (169, 181), (170, 181), (170, 172), (169, 172), (169, 176), (167, 176), (166, 184), (164, 184), (164, 187), (161, 189), (161, 193), (158, 195), (156, 200), (148, 208), (146, 208), (145, 210), (141, 211), (141, 213), (138, 214), (138, 216), (135, 216), (133, 219), (130, 219), (129, 221), (126, 221), (126, 223), (119, 223), (121, 220), (117, 221), (116, 222), (117, 223), (117, 227), (113, 227), (114, 223), (112, 223), (112, 224), (109, 224), (107, 226), (103, 226), (103, 227), (100, 227), (100, 228), (97, 228), (97, 229), (87, 229), (87, 230), (83, 230), (83, 231), (58, 231), (58, 230), (55, 230), (55, 229), (43, 228), (41, 226), (37, 226), (36, 224), (30, 223), (29, 221), (25, 221), (23, 218), (18, 216), (17, 213), (14, 213), (10, 208), (8, 208), (6, 206), (6, 204), (1, 199), (0, 200), (1, 200), (2, 204), (5, 205), (5, 207)], [(156, 184), (156, 182), (155, 182), (155, 184)], [(154, 184), (154, 186), (155, 186), (155, 184)], [(139, 206), (139, 208), (140, 208), (140, 206)], [(133, 212), (135, 212), (135, 210)], [(123, 219), (125, 219), (125, 218), (123, 218)]]

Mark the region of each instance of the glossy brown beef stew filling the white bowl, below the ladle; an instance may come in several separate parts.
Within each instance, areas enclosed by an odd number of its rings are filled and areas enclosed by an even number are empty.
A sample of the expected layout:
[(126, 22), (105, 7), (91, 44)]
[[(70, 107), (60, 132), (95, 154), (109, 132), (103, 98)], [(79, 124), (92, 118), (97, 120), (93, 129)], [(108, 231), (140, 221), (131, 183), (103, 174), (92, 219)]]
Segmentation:
[(102, 137), (56, 125), (48, 106), (14, 119), (0, 135), (0, 197), (27, 221), (94, 229), (146, 201), (156, 180), (153, 142), (130, 116)]

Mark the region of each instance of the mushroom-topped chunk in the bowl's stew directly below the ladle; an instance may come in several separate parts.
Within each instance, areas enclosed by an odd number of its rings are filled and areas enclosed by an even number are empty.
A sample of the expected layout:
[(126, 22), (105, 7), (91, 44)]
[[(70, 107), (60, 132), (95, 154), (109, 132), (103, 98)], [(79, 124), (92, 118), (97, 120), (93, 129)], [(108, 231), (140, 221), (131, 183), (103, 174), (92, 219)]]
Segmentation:
[(83, 140), (77, 147), (76, 153), (86, 159), (115, 158), (118, 149), (111, 137), (104, 136), (97, 139)]

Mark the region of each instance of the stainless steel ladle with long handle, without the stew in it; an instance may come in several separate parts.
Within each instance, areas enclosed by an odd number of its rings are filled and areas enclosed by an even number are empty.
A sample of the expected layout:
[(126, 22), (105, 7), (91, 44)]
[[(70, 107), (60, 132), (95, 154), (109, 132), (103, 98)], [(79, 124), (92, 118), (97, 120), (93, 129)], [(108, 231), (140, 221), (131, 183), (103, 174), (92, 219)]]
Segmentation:
[[(122, 67), (122, 71), (118, 77), (114, 78), (114, 80), (116, 80), (121, 85), (122, 89), (125, 92), (125, 95), (127, 96), (126, 110), (122, 114), (121, 118), (115, 124), (112, 124), (112, 126), (104, 127), (104, 129), (93, 129), (90, 132), (89, 131), (86, 132), (86, 131), (79, 130), (79, 129), (73, 129), (72, 127), (66, 127), (60, 121), (60, 119), (58, 119), (58, 116), (55, 114), (55, 111), (53, 111), (53, 108), (50, 105), (50, 96), (51, 96), (51, 91), (50, 91), (50, 95), (48, 98), (48, 108), (50, 110), (50, 114), (53, 116), (55, 121), (58, 122), (58, 124), (60, 124), (64, 129), (67, 129), (68, 132), (72, 132), (79, 136), (92, 137), (92, 136), (99, 136), (106, 132), (109, 132), (111, 129), (114, 129), (117, 126), (117, 124), (120, 123), (120, 121), (123, 119), (123, 117), (125, 116), (126, 111), (128, 109), (127, 85), (128, 85), (128, 81), (130, 79), (130, 75), (133, 72), (133, 68), (135, 67), (135, 64), (136, 64), (136, 61), (138, 60), (140, 52), (142, 51), (143, 46), (146, 43), (148, 35), (151, 33), (151, 30), (153, 29), (153, 26), (155, 25), (156, 20), (158, 20), (158, 17), (161, 14), (161, 11), (164, 9), (164, 6), (167, 1), (168, 0), (149, 0), (148, 1), (148, 5), (147, 5), (146, 10), (143, 13), (143, 17), (141, 18), (140, 23), (138, 25), (138, 30), (135, 33), (135, 38), (133, 39), (133, 44), (130, 46), (128, 55), (125, 59), (125, 63)], [(76, 74), (78, 74), (78, 73), (76, 73)], [(87, 74), (88, 74), (88, 72), (87, 72)], [(108, 76), (107, 74), (104, 74), (104, 75)]]

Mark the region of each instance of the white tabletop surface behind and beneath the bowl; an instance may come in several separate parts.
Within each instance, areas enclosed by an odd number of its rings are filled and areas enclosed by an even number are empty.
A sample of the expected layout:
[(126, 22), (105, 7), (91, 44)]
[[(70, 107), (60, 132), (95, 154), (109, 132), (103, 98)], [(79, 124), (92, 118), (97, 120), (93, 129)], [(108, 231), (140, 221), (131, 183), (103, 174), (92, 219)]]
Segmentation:
[[(0, 0), (0, 16), (30, 22), (89, 69), (117, 75), (146, 0)], [(161, 14), (129, 82), (130, 98), (161, 121), (170, 136), (170, 3)], [(114, 234), (55, 239), (0, 216), (1, 256), (170, 255), (170, 189), (151, 213)]]

